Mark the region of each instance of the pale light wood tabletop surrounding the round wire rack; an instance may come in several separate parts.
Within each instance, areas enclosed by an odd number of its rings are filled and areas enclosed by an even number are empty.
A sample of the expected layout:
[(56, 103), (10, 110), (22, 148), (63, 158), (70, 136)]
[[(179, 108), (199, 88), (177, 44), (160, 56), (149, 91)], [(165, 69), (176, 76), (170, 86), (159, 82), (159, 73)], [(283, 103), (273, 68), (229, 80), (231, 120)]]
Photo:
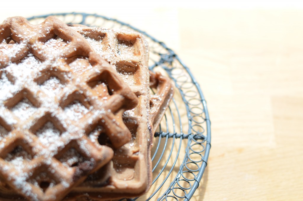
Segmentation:
[(303, 9), (125, 11), (105, 4), (2, 7), (0, 21), (80, 11), (145, 30), (175, 50), (208, 103), (212, 147), (192, 200), (303, 199)]

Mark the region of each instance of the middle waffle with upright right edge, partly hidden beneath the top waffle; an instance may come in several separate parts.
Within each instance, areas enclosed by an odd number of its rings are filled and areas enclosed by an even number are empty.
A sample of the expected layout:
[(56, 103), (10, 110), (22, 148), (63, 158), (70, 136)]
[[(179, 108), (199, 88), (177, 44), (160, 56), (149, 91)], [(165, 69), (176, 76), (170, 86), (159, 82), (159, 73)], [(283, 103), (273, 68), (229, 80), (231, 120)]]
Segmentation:
[[(141, 195), (151, 186), (148, 43), (137, 32), (73, 28), (112, 65), (137, 95), (139, 103), (123, 114), (132, 140), (114, 149), (112, 161), (75, 187), (66, 199), (74, 200), (83, 196), (100, 200)], [(108, 140), (105, 141), (105, 145), (112, 147)]]

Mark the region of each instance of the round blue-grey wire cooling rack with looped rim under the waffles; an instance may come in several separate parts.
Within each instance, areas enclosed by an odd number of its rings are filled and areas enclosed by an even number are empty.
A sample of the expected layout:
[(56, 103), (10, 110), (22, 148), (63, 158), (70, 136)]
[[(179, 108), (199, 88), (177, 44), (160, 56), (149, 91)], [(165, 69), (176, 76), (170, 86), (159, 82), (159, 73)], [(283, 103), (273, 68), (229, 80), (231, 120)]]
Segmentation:
[(153, 185), (141, 197), (121, 200), (190, 200), (195, 192), (203, 197), (204, 192), (200, 192), (198, 186), (211, 147), (210, 120), (200, 86), (178, 55), (146, 32), (101, 15), (58, 13), (33, 16), (28, 20), (38, 24), (50, 15), (67, 24), (141, 32), (149, 42), (149, 69), (166, 74), (175, 83), (174, 97), (154, 138)]

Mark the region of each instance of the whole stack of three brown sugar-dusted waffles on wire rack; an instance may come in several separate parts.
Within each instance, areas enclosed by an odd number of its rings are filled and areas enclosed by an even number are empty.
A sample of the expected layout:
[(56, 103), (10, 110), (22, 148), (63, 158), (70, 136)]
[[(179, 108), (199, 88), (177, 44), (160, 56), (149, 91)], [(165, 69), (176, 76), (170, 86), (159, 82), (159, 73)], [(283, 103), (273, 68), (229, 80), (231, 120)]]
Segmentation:
[(0, 199), (143, 194), (172, 94), (168, 78), (148, 71), (137, 32), (8, 18), (0, 25)]

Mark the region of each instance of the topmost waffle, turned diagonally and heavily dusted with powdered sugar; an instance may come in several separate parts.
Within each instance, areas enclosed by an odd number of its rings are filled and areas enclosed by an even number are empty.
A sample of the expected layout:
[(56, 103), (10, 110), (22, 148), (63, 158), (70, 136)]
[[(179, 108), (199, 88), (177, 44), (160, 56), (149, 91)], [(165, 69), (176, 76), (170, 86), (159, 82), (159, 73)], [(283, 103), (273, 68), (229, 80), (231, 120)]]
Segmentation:
[(138, 99), (54, 17), (9, 18), (0, 42), (1, 200), (61, 200), (133, 140), (122, 114)]

